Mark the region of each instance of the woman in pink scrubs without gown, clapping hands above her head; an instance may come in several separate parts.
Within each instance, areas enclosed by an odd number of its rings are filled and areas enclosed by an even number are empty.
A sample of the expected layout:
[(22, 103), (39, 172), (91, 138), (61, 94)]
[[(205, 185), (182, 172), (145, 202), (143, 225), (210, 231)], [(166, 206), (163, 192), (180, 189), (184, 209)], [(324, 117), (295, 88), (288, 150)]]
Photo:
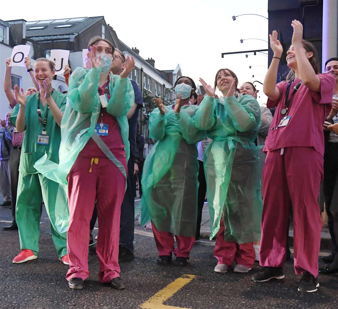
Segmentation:
[(335, 78), (318, 74), (315, 47), (302, 40), (303, 26), (293, 20), (292, 45), (286, 61), (287, 81), (275, 84), (283, 47), (277, 31), (270, 34), (273, 58), (263, 91), (267, 107), (277, 107), (265, 141), (260, 272), (253, 281), (283, 279), (290, 202), (293, 209), (294, 268), (303, 274), (298, 291), (315, 292), (321, 217), (318, 206), (323, 180), (323, 124), (330, 113)]

